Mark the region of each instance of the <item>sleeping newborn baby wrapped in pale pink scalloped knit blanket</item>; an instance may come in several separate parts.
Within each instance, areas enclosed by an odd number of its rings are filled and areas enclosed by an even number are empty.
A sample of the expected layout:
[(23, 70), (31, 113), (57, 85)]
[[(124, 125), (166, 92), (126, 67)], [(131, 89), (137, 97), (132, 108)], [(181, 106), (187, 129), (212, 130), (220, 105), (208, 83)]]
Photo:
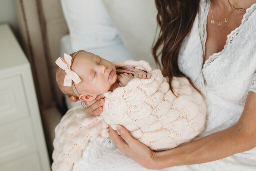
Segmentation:
[(175, 148), (204, 130), (206, 105), (186, 78), (172, 79), (173, 93), (161, 70), (146, 61), (110, 62), (86, 51), (71, 56), (56, 60), (61, 91), (82, 101), (104, 94), (105, 103), (100, 116), (79, 105), (62, 117), (55, 129), (52, 170), (72, 170), (89, 140), (109, 137), (109, 125), (114, 130), (123, 125), (153, 150)]

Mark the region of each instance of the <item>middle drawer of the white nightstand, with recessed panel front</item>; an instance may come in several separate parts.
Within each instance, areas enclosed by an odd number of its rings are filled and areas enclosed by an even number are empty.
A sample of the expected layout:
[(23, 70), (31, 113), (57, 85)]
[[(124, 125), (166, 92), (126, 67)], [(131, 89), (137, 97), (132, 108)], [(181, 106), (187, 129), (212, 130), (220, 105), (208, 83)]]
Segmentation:
[(0, 164), (36, 151), (30, 118), (0, 126)]

